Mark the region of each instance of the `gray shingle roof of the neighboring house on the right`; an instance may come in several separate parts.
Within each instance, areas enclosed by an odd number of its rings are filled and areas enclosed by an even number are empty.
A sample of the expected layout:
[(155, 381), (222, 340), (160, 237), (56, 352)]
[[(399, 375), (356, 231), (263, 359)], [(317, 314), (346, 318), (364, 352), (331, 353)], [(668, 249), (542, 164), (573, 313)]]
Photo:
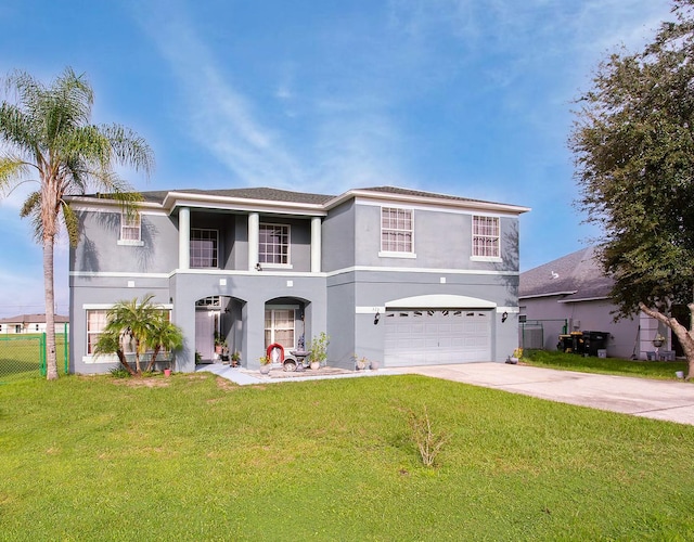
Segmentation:
[(518, 297), (563, 295), (564, 301), (609, 297), (613, 280), (594, 256), (594, 247), (583, 248), (520, 273)]

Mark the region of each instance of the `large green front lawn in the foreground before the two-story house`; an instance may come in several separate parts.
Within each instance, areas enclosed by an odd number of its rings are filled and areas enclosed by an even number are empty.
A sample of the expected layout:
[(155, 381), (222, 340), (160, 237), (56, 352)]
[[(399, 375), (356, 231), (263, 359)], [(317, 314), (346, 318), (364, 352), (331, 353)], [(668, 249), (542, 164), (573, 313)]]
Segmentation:
[(414, 375), (27, 380), (0, 540), (691, 540), (693, 455), (691, 426)]

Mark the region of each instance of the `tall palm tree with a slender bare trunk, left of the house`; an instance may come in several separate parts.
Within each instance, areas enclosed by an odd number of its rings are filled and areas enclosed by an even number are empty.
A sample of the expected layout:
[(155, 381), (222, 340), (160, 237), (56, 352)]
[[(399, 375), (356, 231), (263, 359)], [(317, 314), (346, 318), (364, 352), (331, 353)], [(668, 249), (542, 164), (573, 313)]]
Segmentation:
[(49, 87), (24, 72), (7, 79), (14, 102), (0, 104), (0, 190), (38, 183), (22, 207), (43, 250), (47, 378), (57, 378), (53, 247), (61, 223), (77, 243), (77, 217), (66, 196), (88, 190), (108, 193), (132, 211), (140, 194), (114, 171), (116, 165), (150, 173), (154, 157), (146, 142), (119, 125), (91, 124), (93, 91), (83, 75), (66, 68)]

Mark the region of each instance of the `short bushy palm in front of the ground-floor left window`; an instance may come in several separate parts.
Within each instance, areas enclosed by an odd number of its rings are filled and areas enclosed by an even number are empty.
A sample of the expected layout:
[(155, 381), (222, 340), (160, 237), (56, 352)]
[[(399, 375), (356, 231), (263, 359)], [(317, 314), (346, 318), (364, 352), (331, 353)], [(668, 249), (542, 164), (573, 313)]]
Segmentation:
[[(183, 346), (183, 334), (172, 324), (168, 314), (152, 302), (149, 294), (138, 301), (118, 301), (106, 315), (107, 322), (100, 334), (94, 352), (97, 356), (116, 353), (121, 365), (131, 375), (142, 374), (142, 356), (152, 351), (146, 370), (154, 366), (156, 357), (162, 350), (176, 350)], [(128, 362), (125, 343), (134, 344), (134, 370)]]

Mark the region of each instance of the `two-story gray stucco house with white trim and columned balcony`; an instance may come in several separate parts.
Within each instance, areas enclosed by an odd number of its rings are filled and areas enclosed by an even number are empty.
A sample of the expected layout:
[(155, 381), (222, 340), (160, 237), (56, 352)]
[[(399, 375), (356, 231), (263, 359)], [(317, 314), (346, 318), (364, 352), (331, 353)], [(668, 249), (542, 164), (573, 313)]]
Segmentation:
[(154, 294), (185, 337), (176, 370), (245, 367), (269, 345), (330, 336), (329, 364), (504, 361), (517, 346), (518, 216), (526, 207), (389, 186), (144, 193), (139, 214), (72, 198), (70, 370), (106, 372), (93, 345), (110, 307)]

